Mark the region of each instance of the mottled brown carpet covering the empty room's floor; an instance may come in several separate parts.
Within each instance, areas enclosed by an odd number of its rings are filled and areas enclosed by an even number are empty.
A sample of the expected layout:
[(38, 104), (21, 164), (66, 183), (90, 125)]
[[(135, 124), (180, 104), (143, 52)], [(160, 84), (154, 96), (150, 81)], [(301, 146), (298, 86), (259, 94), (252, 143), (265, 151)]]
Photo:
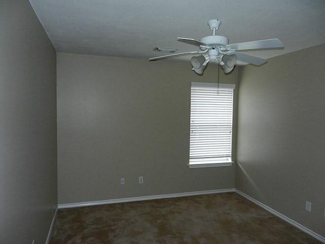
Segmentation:
[(321, 243), (237, 193), (59, 209), (50, 244)]

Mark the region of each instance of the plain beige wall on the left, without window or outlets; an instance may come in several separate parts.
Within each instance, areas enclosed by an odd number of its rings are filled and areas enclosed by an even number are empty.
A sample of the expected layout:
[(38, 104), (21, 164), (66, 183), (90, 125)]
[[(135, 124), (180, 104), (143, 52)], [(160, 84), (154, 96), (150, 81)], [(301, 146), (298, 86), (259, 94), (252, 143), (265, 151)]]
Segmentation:
[(26, 0), (0, 2), (0, 243), (45, 243), (57, 203), (56, 54)]

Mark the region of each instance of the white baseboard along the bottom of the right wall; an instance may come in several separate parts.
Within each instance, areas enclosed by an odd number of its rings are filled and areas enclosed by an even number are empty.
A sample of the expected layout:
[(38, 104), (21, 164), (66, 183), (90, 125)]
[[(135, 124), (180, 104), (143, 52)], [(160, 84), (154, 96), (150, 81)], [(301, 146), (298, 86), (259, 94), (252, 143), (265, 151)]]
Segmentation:
[(316, 232), (314, 232), (314, 231), (308, 229), (307, 227), (305, 227), (305, 226), (299, 224), (298, 222), (296, 222), (296, 221), (294, 221), (294, 220), (291, 220), (290, 218), (286, 217), (285, 215), (282, 215), (280, 212), (274, 210), (273, 208), (271, 208), (271, 207), (265, 205), (265, 204), (262, 203), (262, 202), (259, 202), (259, 201), (255, 200), (254, 198), (252, 198), (252, 197), (246, 195), (245, 193), (243, 193), (243, 192), (241, 192), (241, 191), (235, 189), (235, 192), (237, 192), (239, 195), (245, 197), (246, 199), (252, 201), (253, 203), (257, 204), (258, 206), (263, 207), (265, 210), (271, 212), (271, 214), (273, 214), (273, 215), (279, 217), (280, 219), (282, 219), (282, 220), (288, 222), (289, 224), (291, 224), (291, 225), (297, 227), (298, 229), (300, 229), (300, 230), (306, 232), (307, 234), (313, 236), (313, 237), (316, 238), (317, 240), (319, 240), (319, 241), (325, 243), (325, 237), (323, 237), (323, 236), (317, 234)]

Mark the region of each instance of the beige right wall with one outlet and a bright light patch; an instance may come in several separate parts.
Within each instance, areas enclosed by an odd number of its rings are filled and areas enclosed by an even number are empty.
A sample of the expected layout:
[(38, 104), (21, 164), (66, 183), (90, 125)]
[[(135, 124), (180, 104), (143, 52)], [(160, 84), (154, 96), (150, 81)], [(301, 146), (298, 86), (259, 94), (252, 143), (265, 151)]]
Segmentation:
[(240, 69), (236, 188), (325, 236), (323, 53), (325, 44)]

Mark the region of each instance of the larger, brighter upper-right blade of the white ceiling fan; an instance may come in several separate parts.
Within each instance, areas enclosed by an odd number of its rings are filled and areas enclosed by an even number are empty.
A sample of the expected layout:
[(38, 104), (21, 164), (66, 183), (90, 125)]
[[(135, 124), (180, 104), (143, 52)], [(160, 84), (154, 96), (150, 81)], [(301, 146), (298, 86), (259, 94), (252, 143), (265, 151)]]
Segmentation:
[(259, 40), (252, 42), (234, 43), (225, 46), (227, 49), (234, 50), (251, 50), (251, 49), (264, 49), (264, 48), (281, 48), (284, 47), (279, 39)]

